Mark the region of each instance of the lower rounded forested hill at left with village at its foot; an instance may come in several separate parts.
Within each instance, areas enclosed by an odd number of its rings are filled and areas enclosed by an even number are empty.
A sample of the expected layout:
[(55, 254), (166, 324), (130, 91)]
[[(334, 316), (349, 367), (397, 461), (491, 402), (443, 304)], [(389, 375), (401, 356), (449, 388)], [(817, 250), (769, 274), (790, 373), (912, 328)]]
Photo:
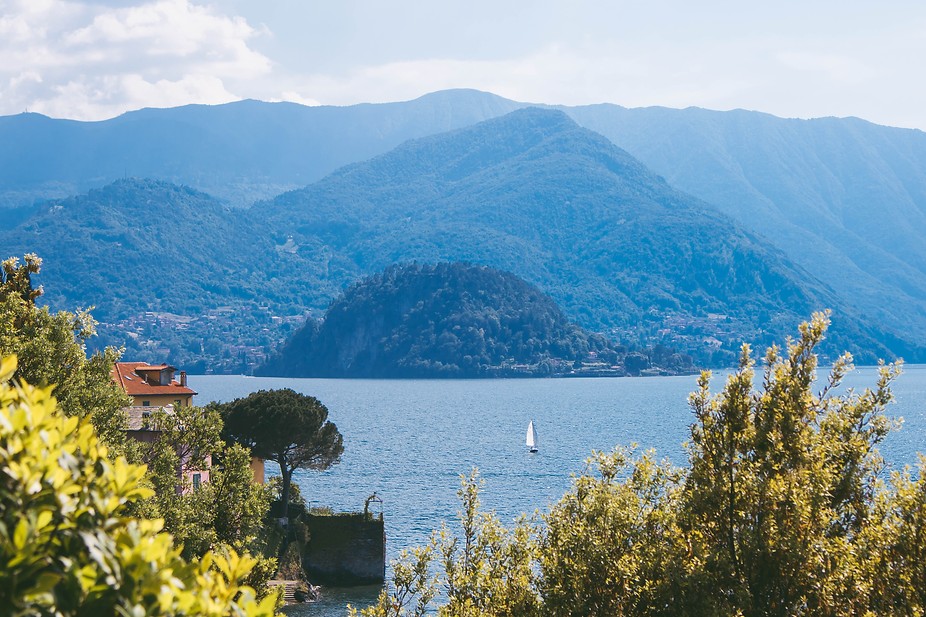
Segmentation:
[(311, 300), (341, 284), (312, 278), (311, 265), (292, 255), (284, 271), (282, 248), (247, 211), (155, 180), (41, 204), (0, 230), (0, 246), (4, 259), (43, 258), (42, 301), (94, 307), (101, 324), (92, 343), (191, 371), (247, 370), (301, 322)]

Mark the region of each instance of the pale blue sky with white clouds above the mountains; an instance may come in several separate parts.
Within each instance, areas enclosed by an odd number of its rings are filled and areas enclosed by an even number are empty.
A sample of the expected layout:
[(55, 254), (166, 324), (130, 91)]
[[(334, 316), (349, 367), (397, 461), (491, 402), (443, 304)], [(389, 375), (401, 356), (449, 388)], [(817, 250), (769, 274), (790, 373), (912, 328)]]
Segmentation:
[(0, 115), (475, 88), (926, 130), (924, 67), (922, 0), (0, 0)]

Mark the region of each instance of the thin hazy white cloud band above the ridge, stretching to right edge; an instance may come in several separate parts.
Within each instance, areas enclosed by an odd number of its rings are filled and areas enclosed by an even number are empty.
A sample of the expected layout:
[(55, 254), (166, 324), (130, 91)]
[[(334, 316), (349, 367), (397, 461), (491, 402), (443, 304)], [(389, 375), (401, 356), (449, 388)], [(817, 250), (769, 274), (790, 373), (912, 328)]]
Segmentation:
[[(745, 108), (926, 128), (926, 91), (911, 80), (926, 39), (909, 30), (839, 40), (744, 32), (689, 44), (640, 37), (563, 41), (508, 58), (432, 58), (292, 74), (286, 89), (335, 105), (476, 88), (536, 103)], [(897, 92), (902, 95), (886, 94)]]

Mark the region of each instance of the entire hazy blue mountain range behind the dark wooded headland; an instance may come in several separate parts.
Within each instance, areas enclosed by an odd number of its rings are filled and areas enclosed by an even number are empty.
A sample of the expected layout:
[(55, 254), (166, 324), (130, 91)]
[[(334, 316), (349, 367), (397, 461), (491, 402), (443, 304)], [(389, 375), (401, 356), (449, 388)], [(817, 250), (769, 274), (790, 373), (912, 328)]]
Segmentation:
[[(863, 358), (916, 358), (924, 346), (921, 132), (611, 105), (498, 117), (522, 107), (450, 91), (384, 106), (142, 110), (103, 123), (0, 118), (7, 205), (106, 182), (120, 160), (123, 173), (132, 161), (220, 193), (121, 180), (7, 210), (0, 241), (46, 257), (55, 306), (96, 304), (107, 323), (146, 311), (168, 326), (189, 318), (198, 338), (129, 341), (186, 361), (214, 358), (228, 334), (193, 323), (206, 312), (220, 311), (213, 322), (246, 314), (229, 327), (266, 329), (248, 342), (272, 346), (301, 311), (408, 260), (511, 270), (582, 325), (625, 341), (668, 330), (682, 347), (720, 343), (718, 362), (735, 340), (780, 337), (824, 306), (837, 309), (835, 342), (857, 340)], [(420, 137), (455, 127), (466, 128)], [(173, 284), (143, 275), (145, 264)], [(133, 327), (150, 342), (158, 326)]]

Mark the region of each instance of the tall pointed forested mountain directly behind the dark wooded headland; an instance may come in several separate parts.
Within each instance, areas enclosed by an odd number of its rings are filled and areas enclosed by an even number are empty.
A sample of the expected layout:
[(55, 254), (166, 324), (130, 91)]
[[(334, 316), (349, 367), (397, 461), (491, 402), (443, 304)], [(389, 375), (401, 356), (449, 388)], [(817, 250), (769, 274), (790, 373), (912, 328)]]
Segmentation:
[[(647, 341), (669, 330), (669, 343), (702, 357), (710, 338), (724, 343), (716, 361), (732, 359), (735, 341), (780, 338), (811, 311), (842, 306), (768, 244), (552, 110), (414, 140), (253, 209), (307, 259), (322, 238), (358, 274), (409, 260), (507, 269), (585, 327)], [(855, 316), (837, 322), (837, 339), (848, 330), (888, 353)]]

